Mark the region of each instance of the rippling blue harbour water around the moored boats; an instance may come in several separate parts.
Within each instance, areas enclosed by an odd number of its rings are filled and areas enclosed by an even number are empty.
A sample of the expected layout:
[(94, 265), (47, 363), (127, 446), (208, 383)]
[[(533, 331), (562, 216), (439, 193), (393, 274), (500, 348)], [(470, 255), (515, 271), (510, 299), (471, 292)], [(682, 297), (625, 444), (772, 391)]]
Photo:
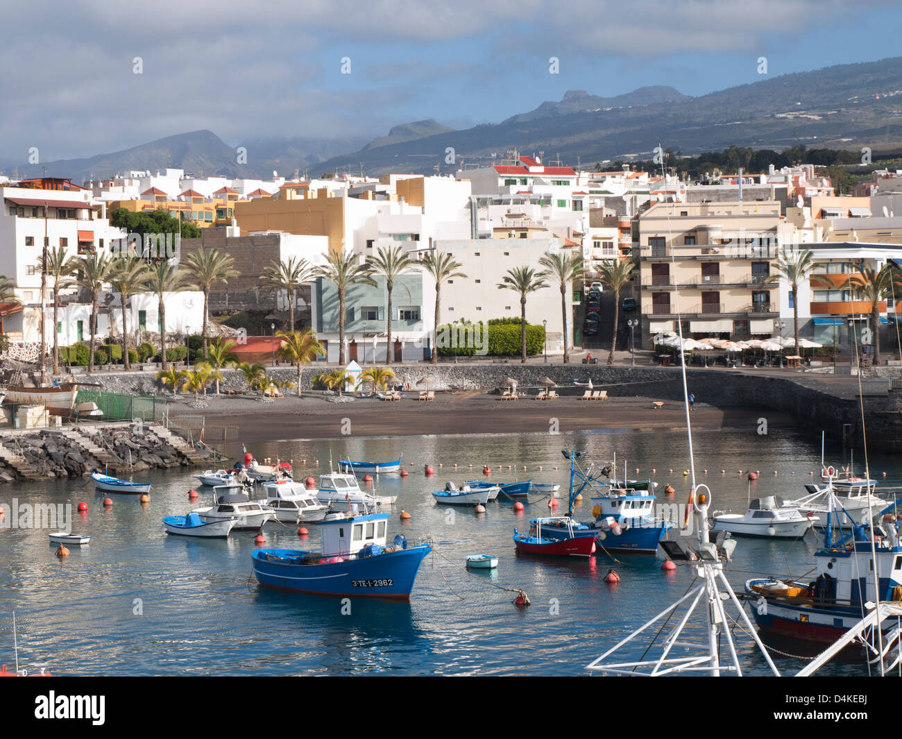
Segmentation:
[[(759, 434), (753, 426), (706, 431), (695, 434), (694, 445), (695, 474), (711, 488), (712, 511), (744, 512), (749, 495), (798, 497), (805, 492), (802, 485), (813, 480), (812, 471), (820, 481), (820, 439), (799, 430), (778, 435)], [(152, 481), (151, 503), (112, 495), (108, 509), (102, 505), (107, 494), (95, 492), (87, 478), (4, 485), (0, 503), (7, 506), (14, 499), (19, 504), (71, 503), (74, 512), (78, 503), (87, 503), (87, 513), (73, 513), (72, 531), (90, 535), (91, 542), (71, 547), (68, 558), (58, 559), (48, 529), (12, 528), (8, 521), (0, 529), (0, 661), (14, 662), (15, 611), (19, 664), (31, 672), (45, 667), (59, 675), (581, 674), (603, 651), (683, 596), (694, 568), (681, 563), (676, 572), (662, 572), (660, 553), (602, 552), (588, 560), (518, 555), (513, 530), (524, 531), (530, 518), (547, 515), (547, 497), (531, 495), (523, 513), (511, 503), (489, 503), (485, 513), (477, 514), (439, 506), (429, 494), (448, 480), (460, 485), (483, 479), (483, 465), (489, 465), (494, 481), (516, 475), (559, 483), (557, 513), (564, 513), (565, 449), (582, 451), (585, 465), (616, 454), (619, 476), (625, 463), (630, 477), (658, 482), (658, 503), (686, 503), (690, 483), (683, 474), (688, 466), (683, 430), (285, 440), (249, 448), (261, 460), (292, 460), (301, 480), (326, 473), (330, 457), (337, 465), (339, 458), (403, 455), (409, 476), (376, 481), (379, 494), (398, 495), (390, 538), (403, 533), (411, 542), (428, 538), (434, 546), (410, 603), (403, 604), (259, 587), (251, 570), (257, 547), (253, 531), (234, 532), (228, 540), (168, 536), (163, 516), (209, 503), (210, 489), (198, 487), (193, 478), (201, 470), (136, 475)], [(839, 449), (828, 449), (827, 457), (833, 464), (848, 464), (848, 453), (841, 458)], [(869, 461), (879, 493), (902, 483), (897, 460)], [(855, 458), (856, 472), (863, 463)], [(434, 476), (424, 474), (426, 465), (434, 467)], [(750, 470), (759, 472), (751, 484)], [(667, 484), (675, 494), (663, 493)], [(200, 492), (195, 503), (188, 497), (192, 488)], [(400, 521), (402, 509), (410, 521)], [(591, 510), (585, 500), (575, 517), (589, 520)], [(317, 528), (308, 528), (308, 539), (300, 540), (293, 526), (270, 523), (265, 546), (316, 549)], [(727, 576), (737, 592), (750, 577), (802, 576), (814, 566), (818, 542), (813, 532), (795, 541), (741, 538)], [(466, 572), (466, 555), (482, 553), (497, 557), (498, 568)], [(603, 581), (609, 569), (620, 575), (619, 584)], [(516, 588), (528, 594), (529, 607), (512, 605), (511, 589)], [(701, 624), (695, 628), (701, 635)], [(744, 670), (765, 674), (767, 666), (750, 639), (738, 627), (736, 633)], [(645, 643), (637, 642), (634, 656)], [(805, 664), (773, 656), (785, 674)], [(867, 674), (867, 666), (844, 661), (825, 674)]]

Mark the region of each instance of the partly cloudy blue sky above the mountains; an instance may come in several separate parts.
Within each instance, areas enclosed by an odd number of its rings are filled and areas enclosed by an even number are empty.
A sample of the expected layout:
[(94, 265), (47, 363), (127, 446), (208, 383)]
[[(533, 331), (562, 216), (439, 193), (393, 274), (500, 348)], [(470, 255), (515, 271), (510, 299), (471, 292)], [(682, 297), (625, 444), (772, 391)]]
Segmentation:
[[(496, 123), (566, 90), (686, 95), (899, 52), (902, 8), (833, 0), (235, 0), (17, 4), (0, 30), (0, 162), (207, 128), (254, 138)], [(142, 74), (133, 73), (141, 57)], [(341, 60), (351, 60), (351, 74)], [(549, 73), (550, 57), (559, 74)]]

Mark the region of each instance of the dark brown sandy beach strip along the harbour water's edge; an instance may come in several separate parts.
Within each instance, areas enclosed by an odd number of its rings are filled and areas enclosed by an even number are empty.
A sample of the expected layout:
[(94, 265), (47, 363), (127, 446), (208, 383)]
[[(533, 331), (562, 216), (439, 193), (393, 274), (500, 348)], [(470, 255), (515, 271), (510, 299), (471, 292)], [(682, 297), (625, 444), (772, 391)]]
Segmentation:
[[(421, 436), (438, 434), (562, 433), (573, 430), (684, 430), (682, 403), (666, 401), (655, 408), (653, 398), (622, 397), (586, 402), (576, 396), (555, 401), (502, 401), (486, 392), (436, 393), (434, 402), (408, 393), (400, 402), (354, 398), (353, 402), (327, 402), (323, 395), (286, 395), (274, 402), (259, 396), (207, 397), (208, 407), (191, 408), (189, 398), (170, 402), (170, 415), (203, 415), (210, 426), (235, 427), (246, 442), (281, 439), (332, 439), (342, 436)], [(792, 427), (786, 413), (751, 406), (717, 408), (696, 403), (695, 430), (754, 430), (762, 413), (771, 428)]]

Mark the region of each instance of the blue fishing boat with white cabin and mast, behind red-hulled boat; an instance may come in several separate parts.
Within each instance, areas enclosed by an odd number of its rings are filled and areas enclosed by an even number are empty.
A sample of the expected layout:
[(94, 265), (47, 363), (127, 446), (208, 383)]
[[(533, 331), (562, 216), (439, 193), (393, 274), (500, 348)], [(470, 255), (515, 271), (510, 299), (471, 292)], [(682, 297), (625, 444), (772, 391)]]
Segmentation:
[[(658, 550), (658, 542), (674, 527), (674, 523), (654, 515), (655, 496), (641, 491), (612, 488), (594, 477), (595, 466), (585, 472), (576, 466), (580, 452), (562, 452), (570, 460), (570, 503), (566, 516), (542, 519), (542, 533), (545, 537), (569, 539), (572, 537), (593, 537), (598, 550), (634, 551), (653, 554)], [(605, 468), (599, 470), (607, 476)], [(577, 488), (575, 481), (581, 481)], [(594, 521), (573, 520), (573, 505), (576, 495), (588, 488), (600, 493), (592, 498)], [(537, 520), (538, 521), (538, 520)]]

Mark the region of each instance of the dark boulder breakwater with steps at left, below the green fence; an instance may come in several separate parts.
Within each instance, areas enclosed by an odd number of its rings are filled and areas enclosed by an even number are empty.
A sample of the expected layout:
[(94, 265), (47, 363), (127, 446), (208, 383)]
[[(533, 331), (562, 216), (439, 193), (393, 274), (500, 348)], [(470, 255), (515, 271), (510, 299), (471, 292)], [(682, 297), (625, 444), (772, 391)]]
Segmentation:
[(5, 482), (212, 463), (206, 449), (192, 447), (158, 424), (0, 434), (0, 480)]

